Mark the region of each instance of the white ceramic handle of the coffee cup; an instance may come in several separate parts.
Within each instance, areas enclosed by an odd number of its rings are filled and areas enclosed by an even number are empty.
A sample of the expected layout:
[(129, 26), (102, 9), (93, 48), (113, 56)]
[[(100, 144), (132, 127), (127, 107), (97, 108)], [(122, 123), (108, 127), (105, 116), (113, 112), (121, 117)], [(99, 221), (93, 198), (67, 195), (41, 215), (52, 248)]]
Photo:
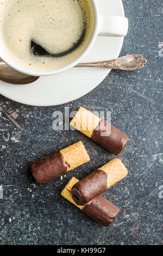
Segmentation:
[(100, 15), (100, 27), (98, 35), (126, 36), (128, 32), (128, 19), (121, 16)]

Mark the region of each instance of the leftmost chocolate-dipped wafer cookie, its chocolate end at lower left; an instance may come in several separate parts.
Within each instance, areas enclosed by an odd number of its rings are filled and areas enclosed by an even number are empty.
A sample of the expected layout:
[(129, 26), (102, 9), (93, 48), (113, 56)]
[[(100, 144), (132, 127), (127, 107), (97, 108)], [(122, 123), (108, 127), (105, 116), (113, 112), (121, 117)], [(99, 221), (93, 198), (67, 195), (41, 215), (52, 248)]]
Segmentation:
[(79, 141), (32, 163), (31, 170), (37, 184), (41, 185), (88, 161), (90, 161), (90, 157), (83, 143)]

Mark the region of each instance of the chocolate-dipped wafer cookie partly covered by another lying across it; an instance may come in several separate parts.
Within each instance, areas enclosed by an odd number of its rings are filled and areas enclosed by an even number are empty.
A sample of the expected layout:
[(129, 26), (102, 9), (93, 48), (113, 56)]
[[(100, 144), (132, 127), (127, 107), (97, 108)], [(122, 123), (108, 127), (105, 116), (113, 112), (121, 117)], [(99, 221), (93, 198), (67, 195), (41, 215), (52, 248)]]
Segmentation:
[(76, 205), (80, 210), (84, 211), (85, 214), (93, 218), (93, 220), (102, 225), (109, 226), (120, 212), (120, 209), (118, 209), (114, 204), (110, 203), (102, 196), (94, 198), (84, 206), (77, 205), (71, 196), (71, 189), (77, 182), (79, 182), (79, 180), (73, 177), (68, 182), (64, 190), (62, 190), (61, 195)]

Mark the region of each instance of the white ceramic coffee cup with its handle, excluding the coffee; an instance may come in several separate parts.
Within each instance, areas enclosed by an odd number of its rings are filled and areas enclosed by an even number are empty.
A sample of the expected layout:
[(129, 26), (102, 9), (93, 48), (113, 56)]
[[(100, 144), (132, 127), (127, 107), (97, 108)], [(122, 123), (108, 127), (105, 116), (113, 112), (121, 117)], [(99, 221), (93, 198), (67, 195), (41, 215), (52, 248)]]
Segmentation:
[(90, 0), (91, 13), (92, 13), (92, 31), (90, 38), (87, 40), (87, 45), (83, 52), (74, 59), (72, 62), (62, 66), (58, 69), (49, 70), (36, 70), (29, 69), (26, 66), (20, 65), (14, 60), (12, 60), (7, 53), (0, 47), (0, 58), (7, 63), (9, 66), (17, 71), (31, 76), (48, 76), (58, 74), (60, 72), (66, 71), (73, 68), (86, 56), (86, 54), (91, 50), (92, 46), (95, 44), (98, 35), (101, 36), (126, 36), (128, 32), (128, 19), (121, 16), (111, 16), (111, 15), (100, 15), (98, 11), (98, 6), (96, 0)]

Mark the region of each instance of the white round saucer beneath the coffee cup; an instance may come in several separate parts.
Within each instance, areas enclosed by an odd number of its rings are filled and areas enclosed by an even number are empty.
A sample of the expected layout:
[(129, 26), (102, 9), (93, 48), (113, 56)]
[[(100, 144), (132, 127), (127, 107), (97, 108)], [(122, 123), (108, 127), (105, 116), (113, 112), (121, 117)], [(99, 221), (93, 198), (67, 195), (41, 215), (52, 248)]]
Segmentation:
[[(124, 16), (121, 0), (97, 0), (101, 14)], [(96, 44), (82, 62), (117, 58), (123, 37), (98, 36)], [(0, 81), (0, 94), (11, 100), (33, 105), (54, 106), (76, 100), (98, 86), (108, 69), (73, 68), (58, 75), (40, 77), (32, 84), (15, 86)]]

